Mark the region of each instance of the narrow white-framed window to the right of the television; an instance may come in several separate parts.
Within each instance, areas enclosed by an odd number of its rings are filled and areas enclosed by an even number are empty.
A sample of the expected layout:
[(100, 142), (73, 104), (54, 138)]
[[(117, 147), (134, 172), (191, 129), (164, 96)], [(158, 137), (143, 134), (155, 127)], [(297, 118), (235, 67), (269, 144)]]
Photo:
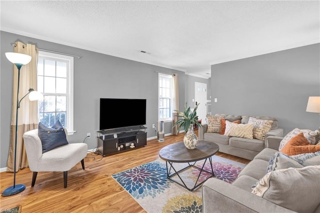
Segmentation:
[(158, 74), (159, 120), (172, 120), (172, 75)]

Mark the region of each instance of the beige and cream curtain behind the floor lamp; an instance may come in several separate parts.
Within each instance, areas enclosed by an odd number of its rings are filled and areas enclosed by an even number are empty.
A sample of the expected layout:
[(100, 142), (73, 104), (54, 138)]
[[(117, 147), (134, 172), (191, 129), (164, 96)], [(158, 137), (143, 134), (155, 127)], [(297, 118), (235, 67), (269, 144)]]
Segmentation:
[[(37, 90), (37, 59), (38, 49), (34, 44), (24, 44), (16, 41), (14, 45), (14, 52), (30, 55), (31, 61), (22, 66), (20, 69), (20, 87), (19, 100), (28, 93), (29, 88)], [(13, 64), (13, 93), (12, 93), (12, 115), (11, 115), (11, 132), (10, 132), (10, 148), (7, 160), (7, 171), (12, 171), (14, 168), (14, 141), (15, 141), (15, 113), (16, 113), (16, 93), (17, 93), (17, 79), (18, 69)], [(16, 151), (16, 171), (19, 168), (28, 166), (26, 152), (23, 145), (22, 135), (24, 132), (37, 128), (38, 124), (38, 104), (37, 101), (29, 101), (25, 97), (18, 109), (18, 132), (17, 132), (17, 151)]]

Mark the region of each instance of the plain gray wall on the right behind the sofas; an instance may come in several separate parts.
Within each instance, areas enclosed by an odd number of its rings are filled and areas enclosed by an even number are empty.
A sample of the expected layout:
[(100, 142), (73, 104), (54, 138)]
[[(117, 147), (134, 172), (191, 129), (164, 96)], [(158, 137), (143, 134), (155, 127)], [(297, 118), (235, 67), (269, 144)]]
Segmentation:
[(211, 65), (213, 113), (273, 116), (284, 134), (317, 129), (320, 115), (306, 112), (320, 96), (319, 43)]

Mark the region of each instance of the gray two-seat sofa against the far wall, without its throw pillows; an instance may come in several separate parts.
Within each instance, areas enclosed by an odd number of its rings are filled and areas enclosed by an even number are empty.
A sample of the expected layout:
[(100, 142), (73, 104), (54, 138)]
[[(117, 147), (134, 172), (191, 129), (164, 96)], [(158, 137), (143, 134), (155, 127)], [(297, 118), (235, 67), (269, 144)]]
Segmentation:
[[(215, 114), (223, 115), (225, 120), (234, 121), (240, 119), (240, 123), (248, 123), (250, 116), (230, 115), (230, 114)], [(273, 117), (265, 116), (252, 116), (259, 119), (273, 120), (271, 130), (266, 133), (265, 138), (268, 136), (283, 136), (283, 129), (278, 127), (278, 121)], [(199, 128), (199, 140), (206, 140), (215, 142), (219, 146), (219, 151), (234, 156), (242, 157), (252, 160), (263, 148), (266, 147), (266, 139), (246, 139), (241, 137), (229, 137), (219, 133), (207, 132), (207, 124), (203, 124)]]

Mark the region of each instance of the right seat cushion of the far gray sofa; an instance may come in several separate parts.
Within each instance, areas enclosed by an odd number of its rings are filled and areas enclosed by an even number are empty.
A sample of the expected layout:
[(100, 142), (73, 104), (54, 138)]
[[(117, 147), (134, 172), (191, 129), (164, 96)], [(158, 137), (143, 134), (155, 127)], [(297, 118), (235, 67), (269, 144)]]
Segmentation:
[(264, 148), (264, 141), (258, 140), (258, 139), (230, 137), (229, 145), (233, 147), (238, 147), (238, 148), (261, 151)]

